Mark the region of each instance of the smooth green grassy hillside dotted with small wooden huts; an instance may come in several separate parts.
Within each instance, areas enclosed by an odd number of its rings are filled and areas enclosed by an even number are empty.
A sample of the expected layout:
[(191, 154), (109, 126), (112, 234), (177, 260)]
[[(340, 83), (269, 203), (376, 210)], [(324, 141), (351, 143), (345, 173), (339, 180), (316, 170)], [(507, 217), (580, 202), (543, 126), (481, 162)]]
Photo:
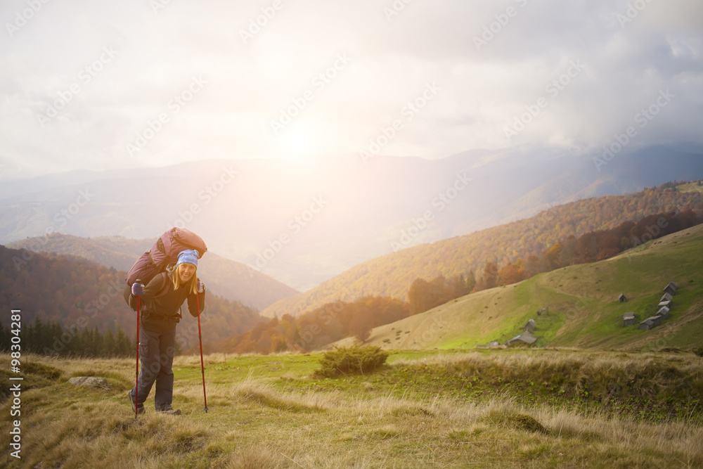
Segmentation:
[[(666, 236), (602, 262), (570, 266), (516, 285), (485, 290), (423, 314), (375, 328), (367, 343), (385, 349), (475, 347), (501, 343), (535, 319), (536, 345), (558, 347), (692, 347), (703, 335), (703, 226)], [(680, 289), (664, 324), (644, 331), (622, 327), (657, 312), (669, 281)], [(624, 293), (629, 301), (620, 304)], [(548, 316), (535, 312), (548, 306)], [(350, 339), (337, 342), (349, 345)]]

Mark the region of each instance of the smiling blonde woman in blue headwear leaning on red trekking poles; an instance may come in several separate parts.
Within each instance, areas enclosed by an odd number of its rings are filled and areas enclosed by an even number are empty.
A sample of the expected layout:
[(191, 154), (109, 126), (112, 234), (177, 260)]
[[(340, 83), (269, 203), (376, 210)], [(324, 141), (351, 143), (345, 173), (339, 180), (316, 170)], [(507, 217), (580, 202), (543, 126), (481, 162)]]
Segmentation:
[[(176, 323), (181, 321), (181, 305), (188, 300), (191, 316), (199, 316), (205, 308), (205, 285), (198, 280), (198, 251), (183, 250), (175, 266), (157, 274), (147, 285), (135, 282), (124, 290), (124, 299), (136, 311), (136, 297), (141, 302), (141, 326), (139, 333), (139, 355), (141, 372), (136, 386), (129, 391), (132, 411), (144, 412), (144, 401), (156, 383), (154, 405), (158, 412), (179, 415), (181, 411), (172, 407), (174, 373), (172, 365), (176, 352)], [(198, 297), (196, 297), (198, 295)], [(198, 311), (200, 304), (200, 311)], [(134, 396), (138, 396), (137, 409)]]

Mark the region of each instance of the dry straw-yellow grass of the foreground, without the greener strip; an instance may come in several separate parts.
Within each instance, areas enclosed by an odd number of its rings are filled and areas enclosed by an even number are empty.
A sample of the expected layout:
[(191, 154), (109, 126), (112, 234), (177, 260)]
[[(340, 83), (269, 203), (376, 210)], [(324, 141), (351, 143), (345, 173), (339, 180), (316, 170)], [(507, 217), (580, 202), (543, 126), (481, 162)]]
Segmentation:
[[(477, 355), (438, 356), (423, 363), (451, 366), (481, 360)], [(206, 358), (209, 365), (237, 360)], [(591, 358), (607, 366), (619, 360), (611, 356), (608, 362), (605, 352)], [(32, 359), (60, 369), (63, 375), (52, 385), (22, 392), (22, 460), (11, 460), (5, 451), (0, 465), (6, 467), (11, 463), (30, 468), (105, 469), (703, 465), (700, 422), (649, 424), (550, 406), (525, 408), (510, 397), (476, 404), (441, 395), (431, 402), (389, 395), (364, 397), (341, 386), (333, 392), (287, 392), (276, 386), (280, 376), (250, 375), (209, 385), (211, 410), (206, 414), (200, 377), (180, 379), (183, 371), (176, 368), (175, 404), (183, 414), (163, 416), (147, 409), (135, 420), (124, 397), (134, 374), (132, 361)], [(548, 358), (525, 352), (522, 357), (500, 359), (505, 360), (504, 366), (517, 366), (519, 359)], [(569, 359), (586, 358), (574, 351), (565, 360)], [(5, 362), (3, 357), (0, 366)], [(197, 364), (200, 374), (199, 357), (179, 357), (176, 364)], [(687, 366), (695, 366), (694, 361)], [(73, 387), (66, 382), (70, 375), (84, 371), (107, 375), (114, 390)], [(8, 401), (0, 412), (8, 415)], [(7, 430), (3, 423), (0, 431), (8, 435)]]

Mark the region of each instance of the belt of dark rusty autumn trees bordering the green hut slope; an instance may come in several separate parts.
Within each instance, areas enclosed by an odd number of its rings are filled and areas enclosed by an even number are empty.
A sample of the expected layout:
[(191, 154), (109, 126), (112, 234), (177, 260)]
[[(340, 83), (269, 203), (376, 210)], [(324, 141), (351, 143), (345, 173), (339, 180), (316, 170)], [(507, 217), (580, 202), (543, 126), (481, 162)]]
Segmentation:
[(651, 240), (688, 230), (701, 221), (695, 212), (685, 210), (650, 215), (637, 223), (626, 221), (614, 229), (589, 231), (579, 238), (569, 236), (527, 260), (517, 259), (502, 268), (489, 262), (478, 281), (473, 271), (466, 278), (463, 275), (437, 276), (429, 281), (417, 278), (408, 290), (408, 302), (390, 297), (365, 297), (356, 302), (328, 303), (298, 318), (284, 314), (280, 321), (275, 317), (247, 333), (220, 342), (214, 351), (268, 354), (313, 350), (346, 336), (364, 342), (373, 328), (449, 304), (467, 293), (511, 285), (565, 266), (608, 259)]

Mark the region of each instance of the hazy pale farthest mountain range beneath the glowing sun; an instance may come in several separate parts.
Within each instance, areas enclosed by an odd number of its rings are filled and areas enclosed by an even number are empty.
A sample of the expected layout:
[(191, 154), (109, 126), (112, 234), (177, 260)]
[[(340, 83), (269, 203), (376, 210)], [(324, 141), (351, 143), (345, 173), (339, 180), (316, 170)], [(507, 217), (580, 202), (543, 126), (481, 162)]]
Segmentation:
[(200, 234), (211, 253), (306, 290), (401, 248), (581, 198), (703, 177), (703, 148), (696, 146), (626, 149), (605, 165), (593, 160), (600, 153), (524, 148), (433, 161), (218, 160), (4, 180), (0, 243), (47, 230), (153, 240), (175, 224)]

